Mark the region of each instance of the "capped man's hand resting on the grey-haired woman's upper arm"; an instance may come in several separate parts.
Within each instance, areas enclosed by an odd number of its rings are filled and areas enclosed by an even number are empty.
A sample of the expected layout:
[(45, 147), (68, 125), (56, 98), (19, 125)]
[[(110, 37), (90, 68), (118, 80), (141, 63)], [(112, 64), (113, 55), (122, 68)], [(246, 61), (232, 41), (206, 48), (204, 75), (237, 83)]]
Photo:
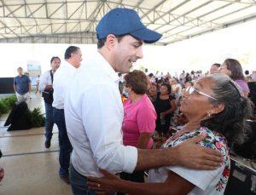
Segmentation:
[(207, 134), (199, 135), (176, 146), (176, 164), (191, 169), (218, 169), (223, 162), (221, 153), (196, 144), (206, 137)]

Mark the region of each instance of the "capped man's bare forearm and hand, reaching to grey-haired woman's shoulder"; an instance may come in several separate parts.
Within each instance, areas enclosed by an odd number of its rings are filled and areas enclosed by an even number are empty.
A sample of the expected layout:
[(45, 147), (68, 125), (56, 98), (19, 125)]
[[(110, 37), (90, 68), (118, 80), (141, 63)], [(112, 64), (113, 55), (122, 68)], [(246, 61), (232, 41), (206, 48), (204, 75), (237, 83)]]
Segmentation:
[(217, 169), (223, 161), (221, 153), (196, 144), (206, 137), (207, 135), (200, 135), (172, 148), (138, 149), (136, 170), (168, 165), (180, 165), (192, 169)]

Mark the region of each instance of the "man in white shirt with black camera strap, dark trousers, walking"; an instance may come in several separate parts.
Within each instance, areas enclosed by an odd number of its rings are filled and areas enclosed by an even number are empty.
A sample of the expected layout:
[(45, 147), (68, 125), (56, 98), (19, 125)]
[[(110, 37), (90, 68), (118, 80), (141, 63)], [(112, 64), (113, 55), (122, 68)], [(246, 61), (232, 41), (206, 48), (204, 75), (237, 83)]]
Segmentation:
[(52, 129), (54, 125), (53, 121), (53, 75), (55, 71), (61, 66), (61, 59), (57, 56), (54, 56), (50, 59), (51, 70), (44, 72), (40, 77), (40, 82), (38, 89), (42, 92), (42, 96), (44, 97), (44, 106), (45, 106), (45, 138), (44, 142), (45, 148), (50, 147), (50, 141), (52, 138)]

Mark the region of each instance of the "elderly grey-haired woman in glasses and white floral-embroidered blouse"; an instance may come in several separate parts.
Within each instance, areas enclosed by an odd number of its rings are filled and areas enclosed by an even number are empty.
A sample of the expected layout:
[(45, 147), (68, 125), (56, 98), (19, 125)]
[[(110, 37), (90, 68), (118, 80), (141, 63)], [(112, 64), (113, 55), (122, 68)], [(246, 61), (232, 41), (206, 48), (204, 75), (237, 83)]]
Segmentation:
[[(200, 106), (200, 107), (199, 107)], [(177, 146), (196, 135), (207, 133), (198, 144), (222, 153), (224, 162), (215, 170), (186, 169), (180, 166), (151, 169), (149, 183), (122, 181), (105, 170), (103, 178), (90, 178), (90, 187), (128, 192), (129, 194), (224, 194), (230, 175), (229, 146), (243, 141), (246, 118), (252, 103), (241, 94), (237, 84), (224, 74), (212, 74), (199, 79), (183, 95), (181, 110), (189, 119), (183, 129), (167, 140), (163, 147)], [(99, 184), (99, 185), (98, 185)], [(100, 187), (98, 187), (100, 186)]]

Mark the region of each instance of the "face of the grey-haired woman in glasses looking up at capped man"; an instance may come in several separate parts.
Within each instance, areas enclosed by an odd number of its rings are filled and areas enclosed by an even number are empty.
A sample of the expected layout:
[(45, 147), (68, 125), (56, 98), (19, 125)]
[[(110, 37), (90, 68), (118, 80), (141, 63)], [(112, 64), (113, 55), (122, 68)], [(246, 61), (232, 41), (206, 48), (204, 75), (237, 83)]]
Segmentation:
[(199, 92), (212, 96), (211, 86), (212, 83), (209, 78), (203, 77), (199, 79), (193, 86), (197, 92), (194, 91), (191, 95), (188, 92), (184, 92), (180, 106), (181, 112), (186, 116), (196, 118), (207, 117), (207, 112), (211, 110), (212, 104), (207, 96), (201, 95)]

